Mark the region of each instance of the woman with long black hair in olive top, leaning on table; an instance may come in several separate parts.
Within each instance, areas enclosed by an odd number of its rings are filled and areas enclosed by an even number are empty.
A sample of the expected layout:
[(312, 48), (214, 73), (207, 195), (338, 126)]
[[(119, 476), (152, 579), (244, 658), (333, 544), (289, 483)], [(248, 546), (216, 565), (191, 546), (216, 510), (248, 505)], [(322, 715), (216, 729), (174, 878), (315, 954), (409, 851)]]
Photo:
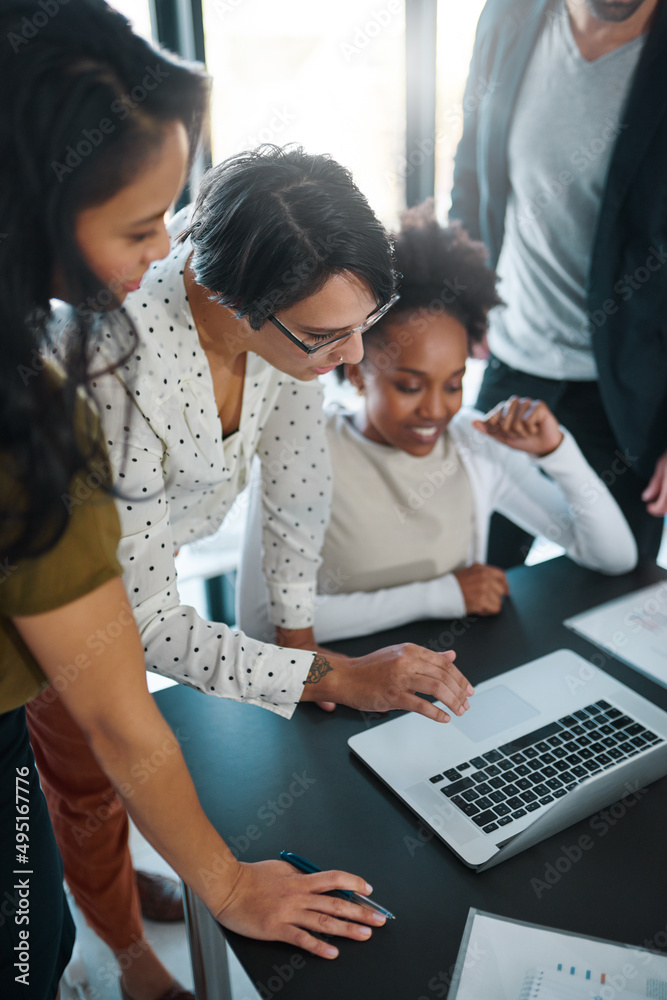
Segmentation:
[[(373, 921), (322, 893), (369, 887), (341, 872), (236, 861), (148, 693), (116, 559), (105, 440), (85, 401), (98, 338), (118, 329), (119, 343), (134, 340), (119, 313), (101, 333), (99, 313), (167, 252), (164, 215), (205, 114), (206, 80), (102, 0), (71, 0), (53, 16), (6, 0), (0, 89), (0, 981), (10, 995), (53, 998), (72, 945), (25, 726), (24, 705), (49, 682), (137, 826), (225, 926), (334, 957), (311, 930), (363, 940), (361, 922)], [(70, 303), (76, 330), (60, 371), (41, 355), (52, 296)], [(61, 749), (47, 748), (47, 763)], [(164, 763), (142, 782), (136, 765), (156, 749)], [(214, 884), (206, 869), (220, 872)], [(136, 997), (178, 994), (152, 976)], [(126, 976), (121, 986), (135, 997)]]

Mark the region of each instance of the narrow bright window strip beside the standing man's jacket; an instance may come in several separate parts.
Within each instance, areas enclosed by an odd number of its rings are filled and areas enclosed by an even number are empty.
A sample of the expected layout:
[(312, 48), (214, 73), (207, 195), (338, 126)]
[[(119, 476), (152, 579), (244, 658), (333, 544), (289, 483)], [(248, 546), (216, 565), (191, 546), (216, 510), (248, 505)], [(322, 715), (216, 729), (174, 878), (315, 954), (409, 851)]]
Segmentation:
[(463, 127), (463, 90), (484, 3), (438, 3), (435, 192), (440, 216), (447, 214), (451, 203), (454, 154)]

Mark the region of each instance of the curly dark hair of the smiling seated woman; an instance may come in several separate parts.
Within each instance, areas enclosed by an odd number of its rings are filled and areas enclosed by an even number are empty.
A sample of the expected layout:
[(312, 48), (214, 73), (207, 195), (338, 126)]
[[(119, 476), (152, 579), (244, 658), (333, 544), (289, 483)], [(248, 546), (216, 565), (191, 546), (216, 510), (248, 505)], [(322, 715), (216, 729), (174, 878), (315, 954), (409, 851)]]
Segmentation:
[(394, 246), (401, 297), (364, 335), (366, 342), (399, 316), (424, 310), (453, 316), (466, 328), (469, 342), (479, 343), (489, 309), (502, 304), (484, 244), (472, 240), (458, 222), (441, 226), (429, 198), (401, 215)]

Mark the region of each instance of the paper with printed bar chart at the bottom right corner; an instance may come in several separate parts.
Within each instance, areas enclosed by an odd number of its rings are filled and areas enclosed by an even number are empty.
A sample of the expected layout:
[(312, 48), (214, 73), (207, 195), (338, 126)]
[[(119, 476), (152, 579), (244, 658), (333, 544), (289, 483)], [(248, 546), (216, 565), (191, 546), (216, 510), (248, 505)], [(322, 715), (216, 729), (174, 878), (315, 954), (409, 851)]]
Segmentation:
[(470, 909), (448, 1000), (665, 1000), (667, 955)]

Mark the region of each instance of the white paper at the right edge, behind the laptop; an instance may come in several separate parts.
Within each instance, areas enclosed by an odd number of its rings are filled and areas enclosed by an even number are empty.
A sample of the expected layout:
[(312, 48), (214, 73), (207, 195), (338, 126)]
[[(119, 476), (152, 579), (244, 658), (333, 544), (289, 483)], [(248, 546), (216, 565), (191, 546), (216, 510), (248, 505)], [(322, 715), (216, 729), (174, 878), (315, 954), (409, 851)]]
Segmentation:
[(667, 580), (566, 618), (563, 625), (667, 687)]

